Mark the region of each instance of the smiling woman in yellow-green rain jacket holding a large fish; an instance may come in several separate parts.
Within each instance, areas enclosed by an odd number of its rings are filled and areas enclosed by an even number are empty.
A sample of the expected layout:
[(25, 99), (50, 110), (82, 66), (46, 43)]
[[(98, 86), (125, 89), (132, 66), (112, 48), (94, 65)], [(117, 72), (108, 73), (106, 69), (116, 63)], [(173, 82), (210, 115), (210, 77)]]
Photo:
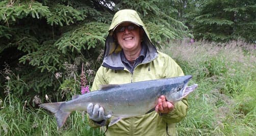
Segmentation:
[[(112, 20), (106, 38), (102, 65), (96, 72), (91, 90), (101, 85), (126, 84), (136, 81), (184, 75), (180, 66), (157, 50), (138, 13), (125, 9)], [(107, 126), (106, 135), (175, 135), (175, 123), (187, 114), (187, 98), (172, 104), (160, 96), (155, 111), (139, 117), (125, 118), (108, 127), (104, 107), (90, 103), (87, 107), (89, 125)]]

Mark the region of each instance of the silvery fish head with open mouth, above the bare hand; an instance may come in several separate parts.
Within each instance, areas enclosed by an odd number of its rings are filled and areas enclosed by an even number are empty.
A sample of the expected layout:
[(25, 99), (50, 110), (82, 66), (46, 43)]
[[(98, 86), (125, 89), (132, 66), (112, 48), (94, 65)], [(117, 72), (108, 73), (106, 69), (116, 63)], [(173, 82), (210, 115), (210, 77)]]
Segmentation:
[(188, 87), (188, 82), (192, 78), (191, 75), (174, 77), (169, 80), (169, 84), (166, 87), (166, 99), (170, 102), (176, 102), (182, 100), (189, 93), (197, 88), (197, 85)]

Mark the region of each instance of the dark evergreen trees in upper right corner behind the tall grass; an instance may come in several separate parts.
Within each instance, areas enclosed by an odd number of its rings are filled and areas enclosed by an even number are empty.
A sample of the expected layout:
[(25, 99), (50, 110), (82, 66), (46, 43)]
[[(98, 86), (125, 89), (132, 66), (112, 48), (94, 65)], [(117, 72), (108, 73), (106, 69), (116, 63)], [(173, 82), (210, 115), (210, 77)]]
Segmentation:
[[(247, 1), (189, 1), (184, 17), (196, 39), (217, 42), (245, 39), (255, 42), (256, 3)], [(196, 9), (196, 10), (195, 10)]]

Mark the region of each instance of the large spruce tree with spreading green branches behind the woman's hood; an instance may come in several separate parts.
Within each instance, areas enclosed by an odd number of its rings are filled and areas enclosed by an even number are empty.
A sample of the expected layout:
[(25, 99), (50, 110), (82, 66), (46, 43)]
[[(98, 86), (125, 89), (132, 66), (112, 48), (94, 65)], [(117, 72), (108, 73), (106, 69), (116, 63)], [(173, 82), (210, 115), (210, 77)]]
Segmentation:
[[(172, 2), (176, 1), (1, 1), (0, 90), (9, 87), (30, 102), (35, 95), (70, 98), (68, 94), (80, 92), (82, 64), (92, 83), (118, 10), (137, 10), (158, 47), (189, 35), (173, 18), (177, 10)], [(0, 92), (4, 98), (5, 91)]]

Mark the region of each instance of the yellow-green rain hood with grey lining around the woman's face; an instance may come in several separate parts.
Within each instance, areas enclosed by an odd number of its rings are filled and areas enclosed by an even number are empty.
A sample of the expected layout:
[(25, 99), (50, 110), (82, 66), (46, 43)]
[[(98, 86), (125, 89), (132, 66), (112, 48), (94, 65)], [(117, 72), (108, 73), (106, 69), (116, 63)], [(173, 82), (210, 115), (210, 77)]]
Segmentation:
[(118, 43), (114, 40), (114, 36), (113, 36), (113, 30), (119, 24), (124, 22), (134, 23), (140, 26), (145, 32), (143, 36), (142, 44), (148, 46), (148, 51), (143, 63), (147, 63), (157, 58), (158, 56), (157, 49), (155, 45), (152, 44), (149, 34), (146, 30), (146, 27), (142, 22), (142, 20), (140, 19), (138, 13), (130, 9), (120, 10), (116, 12), (116, 14), (113, 17), (112, 23), (109, 28), (109, 34), (105, 42), (105, 51), (104, 51), (104, 59), (103, 59), (103, 66), (105, 67), (109, 67), (112, 69), (124, 68), (120, 59), (121, 46), (118, 45)]

